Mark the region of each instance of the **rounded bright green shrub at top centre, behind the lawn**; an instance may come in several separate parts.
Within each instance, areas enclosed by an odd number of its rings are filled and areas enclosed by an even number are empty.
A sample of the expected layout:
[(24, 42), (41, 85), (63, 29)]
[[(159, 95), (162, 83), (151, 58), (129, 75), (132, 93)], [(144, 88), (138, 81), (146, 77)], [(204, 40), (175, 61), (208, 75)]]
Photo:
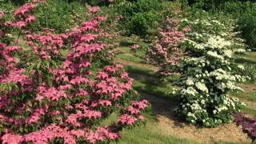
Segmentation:
[(162, 10), (161, 0), (138, 0), (136, 2), (118, 2), (114, 6), (118, 14), (123, 16), (119, 28), (126, 34), (138, 34), (142, 38), (155, 34)]

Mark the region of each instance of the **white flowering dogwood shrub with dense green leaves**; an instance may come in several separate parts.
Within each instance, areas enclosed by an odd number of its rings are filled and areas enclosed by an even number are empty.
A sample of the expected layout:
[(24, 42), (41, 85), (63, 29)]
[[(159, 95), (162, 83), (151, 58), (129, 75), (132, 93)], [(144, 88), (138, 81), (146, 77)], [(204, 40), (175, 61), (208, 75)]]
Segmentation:
[[(181, 103), (175, 111), (187, 122), (199, 126), (230, 122), (242, 106), (238, 98), (229, 97), (230, 91), (242, 90), (236, 83), (244, 77), (233, 70), (243, 69), (233, 59), (234, 52), (242, 45), (234, 42), (230, 30), (221, 22), (205, 20), (190, 24), (189, 38), (182, 43), (189, 57), (183, 58), (178, 66), (181, 78), (177, 84), (181, 89), (176, 94)], [(195, 26), (201, 28), (193, 30)], [(214, 31), (217, 29), (221, 30), (217, 33)]]

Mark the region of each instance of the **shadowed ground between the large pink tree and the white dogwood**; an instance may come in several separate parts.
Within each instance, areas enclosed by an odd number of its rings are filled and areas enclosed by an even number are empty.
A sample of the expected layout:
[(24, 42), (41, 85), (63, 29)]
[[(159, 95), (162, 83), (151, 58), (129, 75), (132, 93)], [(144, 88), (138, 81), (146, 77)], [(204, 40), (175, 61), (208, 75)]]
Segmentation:
[[(177, 127), (184, 127), (186, 122), (177, 118), (174, 108), (178, 106), (178, 97), (172, 94), (174, 86), (170, 82), (162, 82), (153, 70), (128, 68), (130, 78), (134, 78), (134, 90), (151, 104), (150, 115), (155, 121), (159, 116), (169, 118)], [(170, 79), (177, 78), (176, 75)]]

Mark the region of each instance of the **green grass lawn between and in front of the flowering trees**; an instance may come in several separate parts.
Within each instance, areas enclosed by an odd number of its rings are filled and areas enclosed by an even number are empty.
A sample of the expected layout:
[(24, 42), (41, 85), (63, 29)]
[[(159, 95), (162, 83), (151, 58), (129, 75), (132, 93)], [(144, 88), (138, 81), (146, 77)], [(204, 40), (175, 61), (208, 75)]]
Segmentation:
[[(124, 41), (124, 39), (122, 39)], [(161, 114), (168, 117), (169, 111), (174, 107), (173, 105), (178, 104), (178, 98), (175, 98), (172, 94), (174, 86), (171, 85), (171, 81), (178, 78), (178, 75), (172, 75), (168, 79), (168, 82), (162, 82), (158, 78), (156, 71), (158, 67), (146, 64), (145, 57), (146, 52), (139, 50), (134, 54), (130, 51), (130, 44), (132, 42), (122, 42), (117, 48), (120, 53), (117, 55), (115, 61), (126, 65), (126, 70), (129, 72), (130, 77), (134, 78), (134, 89), (138, 90), (139, 93), (143, 93), (143, 98), (147, 98), (147, 94), (154, 97), (151, 101), (152, 109), (155, 107), (161, 107), (159, 110)], [(139, 42), (137, 42), (139, 43)], [(256, 53), (255, 53), (256, 55)], [(256, 63), (256, 57), (254, 53), (246, 55), (246, 58), (238, 58), (237, 61), (240, 63)], [(242, 108), (242, 111), (246, 114), (256, 115), (256, 93), (255, 92), (244, 92), (238, 94), (232, 94), (234, 97), (241, 98), (246, 102), (250, 102), (249, 106)], [(162, 103), (161, 103), (162, 101)], [(158, 106), (154, 106), (154, 102)], [(255, 103), (254, 103), (255, 102)], [(170, 104), (169, 104), (170, 103)], [(255, 106), (254, 106), (255, 104)], [(170, 105), (170, 107), (168, 107)], [(155, 111), (155, 110), (153, 110)], [(168, 113), (168, 114), (166, 114)], [(160, 113), (159, 113), (160, 114)], [(161, 115), (160, 114), (160, 115)], [(235, 128), (235, 126), (233, 126)], [(224, 128), (225, 129), (225, 128)], [(200, 129), (198, 129), (200, 131)], [(239, 130), (239, 129), (238, 129)], [(189, 132), (188, 132), (189, 133)], [(198, 132), (195, 132), (198, 133)], [(242, 134), (242, 132), (241, 132)], [(210, 137), (210, 136), (209, 136)], [(231, 138), (232, 139), (232, 138)], [(209, 142), (209, 141), (208, 141)], [(249, 141), (246, 141), (246, 143)], [(114, 143), (114, 142), (113, 142)], [(159, 126), (158, 116), (146, 114), (146, 125), (135, 127), (134, 129), (122, 130), (122, 139), (119, 143), (130, 144), (130, 143), (152, 143), (152, 144), (165, 144), (165, 143), (198, 143), (197, 139), (191, 140), (190, 138), (177, 137), (166, 132), (163, 132), (162, 127)], [(224, 140), (215, 142), (214, 139), (210, 139), (210, 143), (236, 143), (233, 140)], [(239, 143), (239, 142), (238, 142)]]

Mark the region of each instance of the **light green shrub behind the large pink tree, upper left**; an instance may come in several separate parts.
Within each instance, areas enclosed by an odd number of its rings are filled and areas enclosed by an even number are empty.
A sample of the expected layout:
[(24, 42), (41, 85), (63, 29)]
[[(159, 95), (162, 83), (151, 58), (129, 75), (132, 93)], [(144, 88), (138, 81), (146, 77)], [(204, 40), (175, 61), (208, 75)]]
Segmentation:
[(35, 29), (48, 27), (56, 29), (57, 32), (69, 29), (77, 19), (82, 20), (84, 18), (82, 15), (86, 13), (81, 3), (63, 0), (49, 0), (38, 6), (37, 11), (38, 22)]

